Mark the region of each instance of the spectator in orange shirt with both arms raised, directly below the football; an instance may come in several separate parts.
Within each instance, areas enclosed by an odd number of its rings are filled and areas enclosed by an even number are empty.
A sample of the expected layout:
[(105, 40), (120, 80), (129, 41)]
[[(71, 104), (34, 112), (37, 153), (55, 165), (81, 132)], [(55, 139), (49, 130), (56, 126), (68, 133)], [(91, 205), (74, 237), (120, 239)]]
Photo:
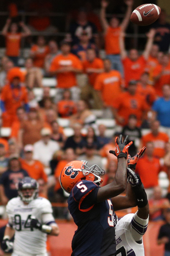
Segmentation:
[(131, 49), (128, 56), (125, 50), (124, 33), (120, 34), (121, 58), (124, 67), (124, 79), (126, 87), (128, 86), (129, 81), (138, 81), (141, 77), (141, 74), (144, 72), (154, 36), (155, 30), (151, 29), (147, 34), (148, 40), (145, 46), (145, 50), (141, 56), (139, 56), (139, 53), (136, 49)]

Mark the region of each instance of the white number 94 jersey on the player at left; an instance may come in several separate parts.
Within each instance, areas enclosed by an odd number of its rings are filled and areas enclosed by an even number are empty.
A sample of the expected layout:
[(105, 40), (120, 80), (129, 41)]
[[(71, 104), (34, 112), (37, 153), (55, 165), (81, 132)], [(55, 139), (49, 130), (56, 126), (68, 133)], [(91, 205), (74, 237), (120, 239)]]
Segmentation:
[(14, 253), (23, 256), (45, 254), (47, 234), (39, 229), (31, 229), (30, 217), (36, 217), (41, 224), (53, 223), (55, 220), (50, 202), (38, 197), (25, 205), (20, 197), (15, 197), (7, 203), (6, 212), (8, 225), (15, 229)]

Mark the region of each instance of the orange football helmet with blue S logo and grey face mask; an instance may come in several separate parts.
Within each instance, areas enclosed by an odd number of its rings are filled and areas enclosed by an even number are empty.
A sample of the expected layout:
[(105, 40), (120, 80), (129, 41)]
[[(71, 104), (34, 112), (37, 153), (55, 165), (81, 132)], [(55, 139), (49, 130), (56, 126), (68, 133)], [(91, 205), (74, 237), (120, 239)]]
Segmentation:
[(103, 181), (100, 175), (103, 175), (105, 172), (97, 165), (88, 167), (86, 164), (86, 161), (72, 161), (64, 166), (60, 174), (60, 183), (66, 192), (70, 193), (75, 184), (80, 180), (91, 180), (99, 183)]

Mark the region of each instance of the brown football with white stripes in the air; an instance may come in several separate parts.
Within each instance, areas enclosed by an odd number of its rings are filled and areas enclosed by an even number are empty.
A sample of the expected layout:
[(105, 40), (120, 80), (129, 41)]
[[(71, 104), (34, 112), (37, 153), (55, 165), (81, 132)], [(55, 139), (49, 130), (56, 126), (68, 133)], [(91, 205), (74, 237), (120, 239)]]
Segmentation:
[(148, 26), (159, 18), (160, 12), (156, 4), (142, 4), (132, 12), (131, 21), (139, 26)]

